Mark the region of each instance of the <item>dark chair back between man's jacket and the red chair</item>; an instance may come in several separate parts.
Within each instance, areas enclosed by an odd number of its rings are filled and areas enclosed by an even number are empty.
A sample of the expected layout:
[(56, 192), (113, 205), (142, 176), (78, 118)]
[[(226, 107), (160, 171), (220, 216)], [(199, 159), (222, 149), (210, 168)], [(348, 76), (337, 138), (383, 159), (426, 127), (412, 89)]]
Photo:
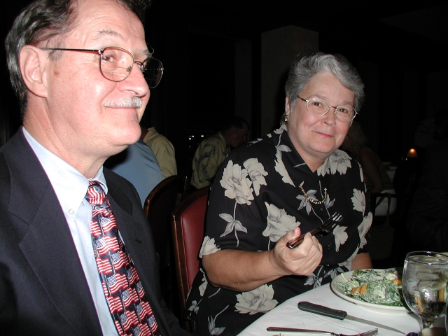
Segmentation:
[(146, 197), (144, 211), (153, 232), (155, 251), (160, 255), (160, 268), (169, 264), (168, 241), (171, 237), (170, 218), (179, 194), (183, 193), (181, 176), (169, 176), (161, 181)]

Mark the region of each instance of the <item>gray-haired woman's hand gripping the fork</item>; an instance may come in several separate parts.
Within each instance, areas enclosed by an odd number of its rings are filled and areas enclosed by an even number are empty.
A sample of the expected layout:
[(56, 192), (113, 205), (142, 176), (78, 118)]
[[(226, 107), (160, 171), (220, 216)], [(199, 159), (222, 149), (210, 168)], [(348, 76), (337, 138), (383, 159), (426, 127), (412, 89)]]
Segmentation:
[(286, 243), (300, 236), (300, 228), (288, 232), (276, 242), (274, 250), (269, 255), (272, 267), (278, 269), (283, 275), (308, 276), (319, 265), (322, 259), (322, 246), (308, 232), (304, 236), (302, 244), (297, 248), (288, 248)]

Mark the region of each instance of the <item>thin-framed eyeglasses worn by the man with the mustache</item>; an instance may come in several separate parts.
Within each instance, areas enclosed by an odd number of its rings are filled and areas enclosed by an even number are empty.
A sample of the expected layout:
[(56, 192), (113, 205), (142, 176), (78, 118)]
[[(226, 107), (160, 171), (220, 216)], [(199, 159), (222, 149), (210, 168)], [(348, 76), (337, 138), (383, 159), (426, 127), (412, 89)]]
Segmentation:
[(143, 73), (148, 86), (156, 87), (163, 74), (163, 65), (158, 59), (148, 57), (144, 61), (135, 61), (134, 56), (127, 50), (118, 47), (97, 49), (68, 49), (68, 48), (41, 48), (42, 50), (66, 50), (79, 52), (94, 52), (99, 55), (99, 69), (104, 77), (114, 82), (125, 80), (130, 75), (132, 66), (137, 64)]

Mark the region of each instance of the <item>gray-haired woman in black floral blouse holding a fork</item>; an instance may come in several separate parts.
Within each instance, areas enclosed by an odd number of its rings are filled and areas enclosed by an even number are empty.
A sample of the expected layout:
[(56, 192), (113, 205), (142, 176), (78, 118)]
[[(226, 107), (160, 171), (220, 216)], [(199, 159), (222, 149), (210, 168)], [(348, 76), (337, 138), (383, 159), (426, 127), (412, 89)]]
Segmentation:
[[(236, 335), (288, 298), (372, 267), (360, 167), (337, 150), (362, 99), (363, 83), (344, 57), (295, 59), (283, 125), (230, 153), (211, 186), (202, 267), (186, 310), (195, 332)], [(325, 113), (326, 102), (337, 109)], [(335, 212), (344, 219), (334, 233), (307, 233), (286, 247)]]

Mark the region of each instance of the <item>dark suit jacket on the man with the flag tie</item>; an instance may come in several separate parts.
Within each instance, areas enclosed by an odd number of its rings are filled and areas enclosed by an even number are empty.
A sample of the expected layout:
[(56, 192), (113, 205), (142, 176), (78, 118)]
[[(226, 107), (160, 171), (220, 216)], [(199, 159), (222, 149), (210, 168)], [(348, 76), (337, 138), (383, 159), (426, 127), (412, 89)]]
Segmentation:
[[(162, 335), (189, 335), (160, 295), (158, 256), (139, 195), (104, 169), (108, 197)], [(66, 219), (22, 130), (0, 149), (0, 330), (102, 335)]]

